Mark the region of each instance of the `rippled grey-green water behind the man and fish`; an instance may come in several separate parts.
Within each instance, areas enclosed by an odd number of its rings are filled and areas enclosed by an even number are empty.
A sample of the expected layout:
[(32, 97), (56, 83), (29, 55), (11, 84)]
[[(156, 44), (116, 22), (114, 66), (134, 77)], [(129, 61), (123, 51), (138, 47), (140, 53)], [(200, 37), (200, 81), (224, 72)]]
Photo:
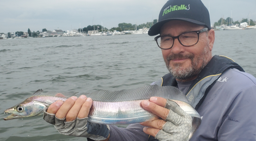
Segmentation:
[[(216, 31), (213, 55), (228, 56), (256, 77), (256, 30)], [(42, 116), (4, 121), (3, 113), (38, 89), (93, 92), (134, 89), (168, 73), (148, 35), (0, 40), (0, 140), (82, 141), (61, 135)]]

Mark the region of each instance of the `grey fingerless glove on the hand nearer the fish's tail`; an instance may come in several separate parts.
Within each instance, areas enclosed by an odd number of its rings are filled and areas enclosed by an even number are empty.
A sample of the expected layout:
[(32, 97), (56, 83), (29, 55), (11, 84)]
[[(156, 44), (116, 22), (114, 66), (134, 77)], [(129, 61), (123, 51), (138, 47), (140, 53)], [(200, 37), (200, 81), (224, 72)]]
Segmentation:
[(188, 141), (192, 129), (192, 117), (171, 100), (166, 101), (164, 108), (170, 109), (163, 129), (156, 134), (159, 141)]

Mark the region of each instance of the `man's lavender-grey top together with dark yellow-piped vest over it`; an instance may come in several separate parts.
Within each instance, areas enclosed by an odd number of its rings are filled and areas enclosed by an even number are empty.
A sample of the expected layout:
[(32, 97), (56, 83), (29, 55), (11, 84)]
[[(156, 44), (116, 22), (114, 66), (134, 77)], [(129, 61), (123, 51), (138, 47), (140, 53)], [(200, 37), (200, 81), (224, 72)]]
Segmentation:
[[(177, 86), (170, 73), (152, 85)], [(225, 56), (213, 56), (184, 92), (202, 122), (189, 141), (256, 141), (256, 78)], [(157, 141), (140, 123), (110, 126), (109, 141)]]

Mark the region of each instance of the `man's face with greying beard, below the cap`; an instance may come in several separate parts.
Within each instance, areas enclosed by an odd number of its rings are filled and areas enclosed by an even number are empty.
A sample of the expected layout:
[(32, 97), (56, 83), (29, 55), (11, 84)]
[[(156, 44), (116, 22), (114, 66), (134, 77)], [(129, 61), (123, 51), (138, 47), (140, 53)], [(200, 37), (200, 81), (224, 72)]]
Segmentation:
[[(175, 20), (165, 23), (161, 28), (160, 35), (178, 36), (185, 32), (197, 31), (203, 28), (204, 26)], [(211, 60), (211, 51), (212, 46), (209, 45), (207, 33), (203, 32), (199, 34), (199, 41), (196, 45), (185, 47), (180, 44), (178, 39), (175, 39), (172, 48), (162, 49), (162, 54), (172, 75), (179, 81), (185, 82), (196, 78)]]

